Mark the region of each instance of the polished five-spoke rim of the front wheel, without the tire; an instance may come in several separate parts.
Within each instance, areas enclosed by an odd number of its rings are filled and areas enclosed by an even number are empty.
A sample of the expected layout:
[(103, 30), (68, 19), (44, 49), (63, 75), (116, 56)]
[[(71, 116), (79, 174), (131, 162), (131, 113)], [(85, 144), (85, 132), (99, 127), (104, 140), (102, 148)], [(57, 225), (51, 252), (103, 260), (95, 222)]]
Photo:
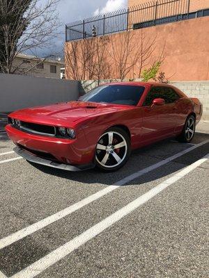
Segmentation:
[(105, 168), (120, 165), (127, 156), (127, 142), (121, 133), (108, 131), (100, 137), (96, 146), (95, 159)]

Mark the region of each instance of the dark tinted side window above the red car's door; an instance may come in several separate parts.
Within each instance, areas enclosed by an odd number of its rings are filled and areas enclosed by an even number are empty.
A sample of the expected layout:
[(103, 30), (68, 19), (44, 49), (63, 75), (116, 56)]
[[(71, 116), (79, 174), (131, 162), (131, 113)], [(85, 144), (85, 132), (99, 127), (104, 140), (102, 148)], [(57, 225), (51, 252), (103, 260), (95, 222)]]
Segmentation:
[(166, 104), (172, 104), (180, 96), (169, 87), (152, 87), (146, 96), (144, 106), (150, 106), (153, 103), (153, 99), (164, 99)]

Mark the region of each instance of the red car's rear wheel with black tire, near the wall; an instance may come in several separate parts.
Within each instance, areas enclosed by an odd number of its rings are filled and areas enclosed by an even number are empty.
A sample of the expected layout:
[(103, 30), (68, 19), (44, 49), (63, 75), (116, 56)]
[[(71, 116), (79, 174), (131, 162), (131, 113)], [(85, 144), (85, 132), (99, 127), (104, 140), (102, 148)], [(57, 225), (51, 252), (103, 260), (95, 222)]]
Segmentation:
[(196, 128), (195, 122), (196, 121), (194, 115), (189, 115), (189, 117), (187, 117), (183, 131), (182, 133), (180, 133), (180, 136), (178, 136), (177, 138), (179, 142), (189, 143), (192, 141), (192, 138), (194, 137), (194, 133), (195, 133), (195, 128)]

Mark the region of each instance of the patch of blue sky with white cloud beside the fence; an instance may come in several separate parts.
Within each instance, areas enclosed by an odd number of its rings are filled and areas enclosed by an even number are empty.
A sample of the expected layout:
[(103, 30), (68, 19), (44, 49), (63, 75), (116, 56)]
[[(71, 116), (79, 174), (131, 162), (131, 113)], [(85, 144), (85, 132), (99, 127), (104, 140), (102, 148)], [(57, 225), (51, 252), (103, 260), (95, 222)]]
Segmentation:
[[(45, 0), (44, 0), (45, 1)], [(107, 13), (127, 6), (127, 0), (61, 0), (57, 6), (62, 26), (59, 29), (59, 38), (54, 40), (52, 49), (37, 51), (36, 55), (44, 56), (47, 52), (54, 51), (62, 54), (65, 42), (65, 24), (92, 17), (99, 13)]]

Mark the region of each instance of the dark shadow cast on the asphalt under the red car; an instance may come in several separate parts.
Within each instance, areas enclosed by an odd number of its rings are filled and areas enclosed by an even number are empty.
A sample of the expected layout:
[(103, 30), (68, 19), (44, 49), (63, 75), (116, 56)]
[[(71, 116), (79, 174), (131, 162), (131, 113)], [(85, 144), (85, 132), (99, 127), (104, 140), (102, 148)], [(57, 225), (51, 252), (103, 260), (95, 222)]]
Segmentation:
[[(208, 137), (209, 138), (209, 137)], [(52, 167), (47, 167), (45, 165), (38, 165), (36, 163), (30, 163), (38, 170), (50, 174), (52, 176), (60, 177), (63, 179), (68, 179), (69, 181), (78, 181), (81, 183), (100, 183), (104, 186), (113, 185), (116, 181), (128, 177), (130, 174), (134, 174), (140, 170), (143, 170), (150, 165), (164, 160), (177, 154), (185, 149), (192, 147), (190, 144), (178, 143), (171, 140), (164, 140), (157, 142), (154, 145), (149, 145), (148, 147), (143, 147), (132, 152), (130, 160), (127, 164), (116, 172), (101, 172), (100, 170), (92, 169), (83, 172), (68, 172), (65, 170), (59, 170)], [(209, 153), (209, 144), (202, 145), (198, 149), (194, 149), (192, 152), (184, 154), (179, 158), (163, 165), (156, 170), (148, 172), (148, 174), (142, 175), (137, 179), (137, 185), (141, 183), (146, 183), (149, 181), (154, 181), (162, 177), (166, 177), (169, 174), (173, 174), (178, 170), (183, 169), (187, 165), (194, 163), (203, 156)], [(133, 185), (134, 181), (127, 182), (125, 186)]]

